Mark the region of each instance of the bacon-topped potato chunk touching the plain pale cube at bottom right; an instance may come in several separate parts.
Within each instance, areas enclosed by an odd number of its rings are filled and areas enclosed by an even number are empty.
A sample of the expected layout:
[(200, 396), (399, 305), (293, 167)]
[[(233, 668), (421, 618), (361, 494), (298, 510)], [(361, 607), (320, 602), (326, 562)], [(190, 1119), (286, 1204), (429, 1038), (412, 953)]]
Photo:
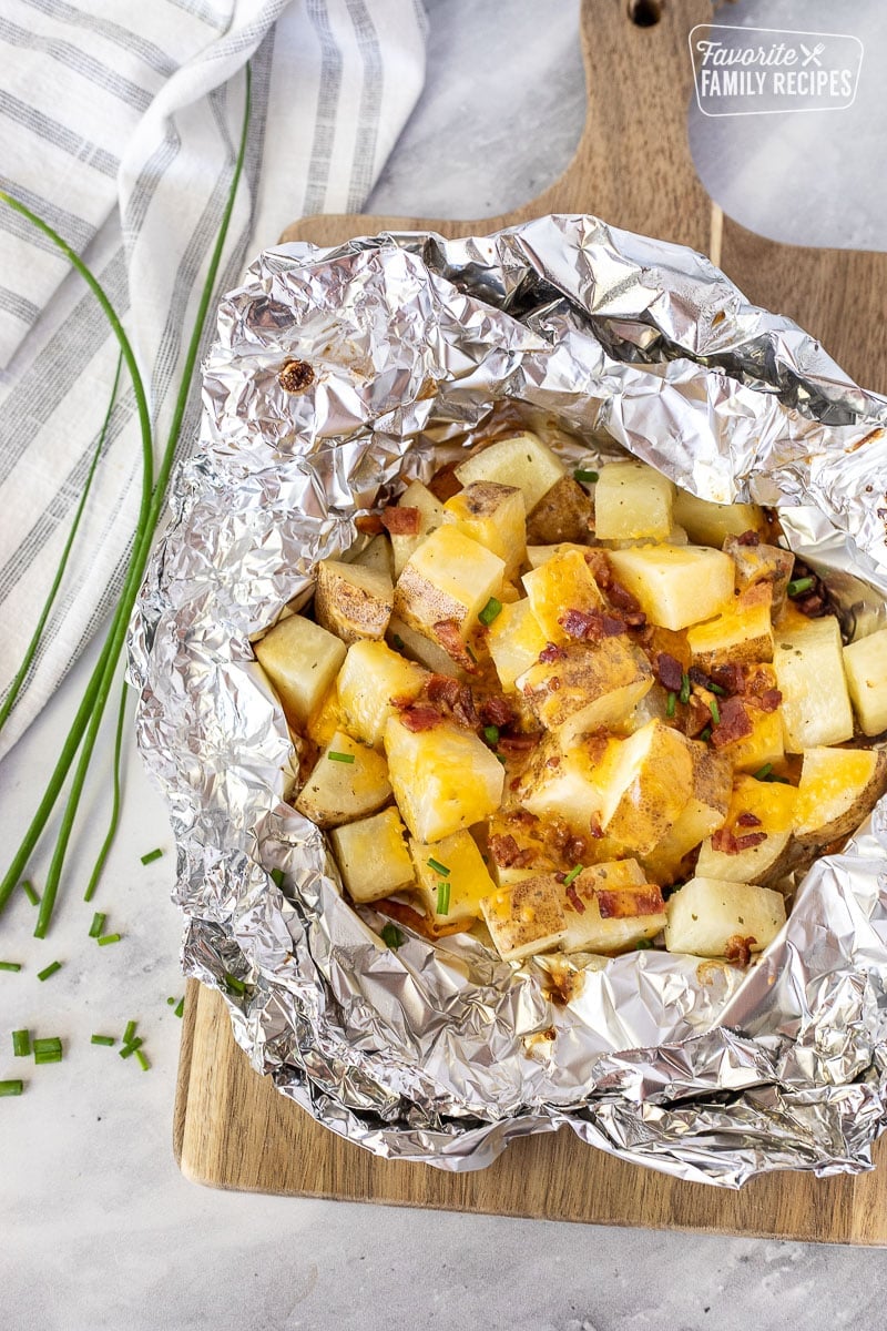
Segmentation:
[(665, 928), (662, 893), (637, 860), (593, 865), (563, 890), (563, 952), (624, 952)]

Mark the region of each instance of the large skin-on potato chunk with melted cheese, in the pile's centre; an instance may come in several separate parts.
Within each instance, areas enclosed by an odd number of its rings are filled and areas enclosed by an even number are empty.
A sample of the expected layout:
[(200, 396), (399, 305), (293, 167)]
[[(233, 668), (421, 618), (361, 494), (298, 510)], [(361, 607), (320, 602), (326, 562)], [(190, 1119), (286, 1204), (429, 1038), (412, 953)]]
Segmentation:
[(625, 720), (653, 684), (650, 663), (624, 635), (597, 646), (568, 643), (561, 652), (524, 671), (517, 688), (565, 748), (580, 735)]

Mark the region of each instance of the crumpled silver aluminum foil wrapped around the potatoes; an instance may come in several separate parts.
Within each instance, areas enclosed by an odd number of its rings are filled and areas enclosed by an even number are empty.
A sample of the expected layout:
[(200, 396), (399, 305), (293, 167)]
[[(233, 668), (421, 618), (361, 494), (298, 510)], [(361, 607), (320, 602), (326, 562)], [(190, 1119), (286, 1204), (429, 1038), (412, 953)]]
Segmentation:
[[(278, 383), (289, 357), (315, 374), (298, 395)], [(309, 598), (355, 512), (427, 478), (503, 399), (581, 435), (560, 445), (574, 463), (626, 449), (705, 498), (778, 504), (850, 628), (887, 622), (887, 402), (699, 254), (588, 216), (267, 250), (221, 305), (201, 451), (129, 644), (185, 970), (226, 993), (257, 1070), (380, 1155), (479, 1169), (569, 1125), (730, 1187), (868, 1169), (887, 1094), (884, 807), (807, 873), (749, 972), (648, 950), (576, 981), (574, 962), (515, 972), (467, 937), (388, 950), (285, 803), (293, 744), (250, 636)]]

